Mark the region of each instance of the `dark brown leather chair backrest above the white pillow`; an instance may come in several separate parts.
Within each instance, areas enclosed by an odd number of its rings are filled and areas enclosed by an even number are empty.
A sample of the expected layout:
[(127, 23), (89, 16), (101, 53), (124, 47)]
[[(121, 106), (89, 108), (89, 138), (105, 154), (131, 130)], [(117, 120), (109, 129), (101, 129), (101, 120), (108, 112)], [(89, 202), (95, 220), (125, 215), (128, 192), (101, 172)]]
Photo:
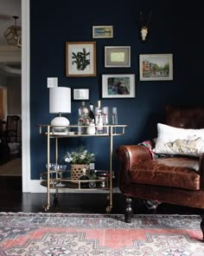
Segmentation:
[(167, 106), (166, 124), (176, 128), (204, 128), (204, 106)]

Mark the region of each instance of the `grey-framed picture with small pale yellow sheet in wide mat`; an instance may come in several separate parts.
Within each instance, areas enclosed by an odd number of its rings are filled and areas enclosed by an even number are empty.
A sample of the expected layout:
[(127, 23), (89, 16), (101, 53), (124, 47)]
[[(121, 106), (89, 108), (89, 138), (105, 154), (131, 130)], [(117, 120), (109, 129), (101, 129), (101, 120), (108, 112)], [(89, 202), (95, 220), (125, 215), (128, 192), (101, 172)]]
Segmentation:
[(105, 68), (130, 68), (131, 46), (105, 46)]

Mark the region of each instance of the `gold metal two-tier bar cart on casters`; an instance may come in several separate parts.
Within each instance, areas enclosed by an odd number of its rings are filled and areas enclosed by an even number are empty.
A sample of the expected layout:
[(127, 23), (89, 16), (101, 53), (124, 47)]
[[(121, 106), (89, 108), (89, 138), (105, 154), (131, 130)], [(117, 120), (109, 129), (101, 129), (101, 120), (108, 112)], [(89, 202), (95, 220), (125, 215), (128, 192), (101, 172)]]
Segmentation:
[[(87, 128), (86, 126), (83, 126)], [(40, 135), (45, 135), (47, 137), (47, 172), (41, 173), (41, 186), (47, 187), (47, 205), (44, 206), (44, 211), (48, 212), (50, 207), (50, 192), (55, 190), (54, 201), (58, 200), (59, 194), (61, 191), (101, 191), (107, 192), (108, 206), (105, 208), (107, 213), (112, 211), (112, 181), (114, 179), (114, 172), (112, 170), (112, 147), (113, 147), (113, 137), (124, 135), (124, 128), (127, 125), (105, 125), (104, 134), (79, 134), (77, 132), (78, 125), (69, 125), (67, 133), (55, 133), (53, 132), (53, 126), (51, 125), (39, 125)], [(87, 180), (87, 181), (73, 181), (71, 180), (71, 171), (63, 170), (61, 172), (53, 171), (50, 169), (50, 140), (54, 139), (55, 141), (55, 163), (58, 163), (58, 140), (63, 138), (77, 138), (77, 137), (95, 137), (95, 138), (110, 138), (110, 170), (109, 171), (97, 171), (98, 179), (97, 180)], [(94, 186), (90, 187), (90, 183), (94, 183)], [(87, 183), (87, 186), (86, 186)], [(84, 187), (85, 186), (85, 187)]]

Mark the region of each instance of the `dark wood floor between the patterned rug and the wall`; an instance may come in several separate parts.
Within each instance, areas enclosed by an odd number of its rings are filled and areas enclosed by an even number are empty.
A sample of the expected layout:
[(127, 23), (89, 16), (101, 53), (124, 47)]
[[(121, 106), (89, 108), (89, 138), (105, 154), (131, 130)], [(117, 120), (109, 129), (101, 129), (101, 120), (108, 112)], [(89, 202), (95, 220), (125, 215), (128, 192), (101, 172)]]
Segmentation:
[[(47, 204), (47, 194), (22, 193), (21, 177), (0, 176), (0, 212), (43, 213)], [(49, 213), (106, 213), (107, 194), (59, 194), (58, 204), (54, 205), (54, 194), (51, 194)], [(133, 201), (133, 213), (151, 214), (153, 210), (145, 207), (143, 200)], [(124, 197), (113, 194), (112, 213), (124, 213)], [(200, 214), (199, 209), (161, 204), (156, 213), (161, 214)]]

